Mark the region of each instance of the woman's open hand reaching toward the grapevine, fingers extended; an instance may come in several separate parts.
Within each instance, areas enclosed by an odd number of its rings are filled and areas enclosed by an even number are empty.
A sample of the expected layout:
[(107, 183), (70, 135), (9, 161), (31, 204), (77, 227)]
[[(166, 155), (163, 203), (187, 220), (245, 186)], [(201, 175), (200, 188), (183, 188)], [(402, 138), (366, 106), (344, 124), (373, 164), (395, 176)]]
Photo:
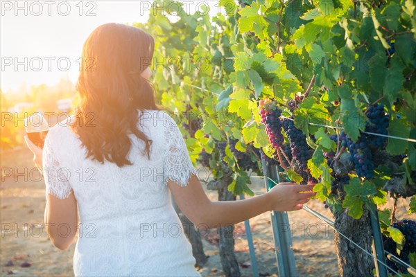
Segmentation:
[(271, 188), (269, 197), (270, 211), (297, 211), (315, 196), (315, 184), (299, 185), (295, 183), (280, 183)]

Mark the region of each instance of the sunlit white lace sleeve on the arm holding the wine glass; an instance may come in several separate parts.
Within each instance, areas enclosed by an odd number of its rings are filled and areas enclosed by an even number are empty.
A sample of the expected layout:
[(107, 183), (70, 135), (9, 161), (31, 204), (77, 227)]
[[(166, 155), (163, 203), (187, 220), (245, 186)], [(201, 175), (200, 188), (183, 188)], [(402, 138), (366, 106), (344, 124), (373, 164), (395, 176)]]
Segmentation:
[(68, 198), (71, 195), (71, 185), (69, 184), (69, 170), (61, 168), (58, 157), (53, 151), (49, 133), (46, 136), (43, 149), (43, 175), (45, 180), (45, 196), (51, 194), (59, 199)]

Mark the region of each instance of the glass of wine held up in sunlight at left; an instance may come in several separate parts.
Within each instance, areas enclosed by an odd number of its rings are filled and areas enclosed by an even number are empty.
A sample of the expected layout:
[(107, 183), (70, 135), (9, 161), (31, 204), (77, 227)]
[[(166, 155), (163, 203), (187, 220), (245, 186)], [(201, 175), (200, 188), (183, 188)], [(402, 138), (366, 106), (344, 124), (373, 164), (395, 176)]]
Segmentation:
[(49, 124), (40, 112), (35, 112), (31, 116), (24, 118), (24, 128), (28, 139), (37, 147), (43, 148), (46, 134), (49, 131)]

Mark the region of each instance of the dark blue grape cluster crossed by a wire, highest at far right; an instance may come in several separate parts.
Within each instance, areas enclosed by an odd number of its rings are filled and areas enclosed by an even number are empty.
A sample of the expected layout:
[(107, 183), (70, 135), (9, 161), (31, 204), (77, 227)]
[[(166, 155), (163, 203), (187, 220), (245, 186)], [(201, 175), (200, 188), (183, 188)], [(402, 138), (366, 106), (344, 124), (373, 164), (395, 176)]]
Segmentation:
[[(383, 105), (370, 106), (366, 114), (370, 121), (365, 126), (366, 132), (388, 134), (389, 116), (385, 113)], [(385, 136), (374, 136), (370, 134), (367, 134), (367, 136), (369, 136), (370, 147), (372, 148), (384, 148), (387, 144), (387, 138)]]

